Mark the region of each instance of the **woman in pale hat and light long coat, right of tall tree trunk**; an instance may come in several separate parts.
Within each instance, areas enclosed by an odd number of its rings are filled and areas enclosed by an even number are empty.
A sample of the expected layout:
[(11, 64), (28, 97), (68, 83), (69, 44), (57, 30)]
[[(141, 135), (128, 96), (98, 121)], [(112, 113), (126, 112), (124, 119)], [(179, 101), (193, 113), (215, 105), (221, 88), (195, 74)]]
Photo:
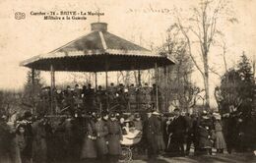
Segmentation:
[(226, 144), (224, 141), (223, 134), (223, 125), (222, 125), (222, 117), (219, 113), (214, 113), (215, 117), (215, 147), (217, 149), (217, 153), (224, 153), (224, 149), (226, 148)]

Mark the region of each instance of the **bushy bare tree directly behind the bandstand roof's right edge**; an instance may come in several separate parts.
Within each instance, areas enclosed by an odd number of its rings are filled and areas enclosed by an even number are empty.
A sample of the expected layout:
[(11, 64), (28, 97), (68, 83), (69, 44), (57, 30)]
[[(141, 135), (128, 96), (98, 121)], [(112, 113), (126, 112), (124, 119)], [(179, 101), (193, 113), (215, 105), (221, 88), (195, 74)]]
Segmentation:
[(160, 88), (164, 97), (167, 97), (164, 102), (189, 111), (197, 104), (203, 90), (191, 81), (193, 62), (187, 53), (187, 42), (180, 35), (180, 29), (169, 27), (165, 42), (157, 50), (161, 55), (175, 60), (175, 65), (166, 70), (160, 69)]

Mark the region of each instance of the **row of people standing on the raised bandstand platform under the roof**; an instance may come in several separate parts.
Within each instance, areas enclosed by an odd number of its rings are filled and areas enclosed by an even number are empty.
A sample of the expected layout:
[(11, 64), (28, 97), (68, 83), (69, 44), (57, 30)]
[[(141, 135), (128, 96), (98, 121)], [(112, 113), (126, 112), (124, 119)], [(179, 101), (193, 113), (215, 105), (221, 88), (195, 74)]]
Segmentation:
[[(63, 110), (74, 112), (75, 110), (86, 111), (106, 111), (112, 110), (141, 110), (147, 109), (149, 105), (156, 105), (157, 85), (150, 86), (147, 82), (144, 85), (124, 85), (119, 83), (103, 88), (98, 85), (96, 88), (92, 84), (75, 84), (74, 87), (67, 85), (65, 89), (54, 89), (51, 99), (50, 87), (42, 89), (36, 109), (38, 112), (50, 113), (49, 106), (53, 100), (54, 113)], [(161, 103), (160, 90), (158, 91), (159, 104)]]

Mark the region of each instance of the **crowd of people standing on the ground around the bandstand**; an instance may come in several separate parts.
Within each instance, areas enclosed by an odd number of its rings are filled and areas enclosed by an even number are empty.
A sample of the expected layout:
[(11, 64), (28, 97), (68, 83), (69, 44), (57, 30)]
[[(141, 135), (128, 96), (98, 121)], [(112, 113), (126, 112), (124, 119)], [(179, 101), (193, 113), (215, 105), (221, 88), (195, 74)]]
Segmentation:
[[(207, 111), (188, 114), (177, 108), (161, 114), (152, 107), (126, 114), (88, 111), (84, 116), (35, 117), (28, 111), (22, 117), (1, 115), (0, 162), (117, 162), (124, 138), (134, 133), (133, 138), (141, 136), (134, 144), (136, 152), (148, 154), (149, 159), (211, 155), (212, 149), (231, 153), (241, 147), (238, 142), (244, 136), (237, 128), (243, 122), (239, 115), (237, 111), (223, 117)], [(232, 122), (226, 131), (224, 122)]]

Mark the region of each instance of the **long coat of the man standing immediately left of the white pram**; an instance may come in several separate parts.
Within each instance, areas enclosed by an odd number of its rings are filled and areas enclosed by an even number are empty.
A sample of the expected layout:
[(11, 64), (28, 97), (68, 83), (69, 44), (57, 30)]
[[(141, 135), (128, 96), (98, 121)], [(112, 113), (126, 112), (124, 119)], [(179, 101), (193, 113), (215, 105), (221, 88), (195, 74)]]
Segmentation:
[(108, 153), (110, 155), (119, 155), (121, 154), (121, 144), (120, 140), (122, 139), (122, 130), (117, 121), (108, 121)]

